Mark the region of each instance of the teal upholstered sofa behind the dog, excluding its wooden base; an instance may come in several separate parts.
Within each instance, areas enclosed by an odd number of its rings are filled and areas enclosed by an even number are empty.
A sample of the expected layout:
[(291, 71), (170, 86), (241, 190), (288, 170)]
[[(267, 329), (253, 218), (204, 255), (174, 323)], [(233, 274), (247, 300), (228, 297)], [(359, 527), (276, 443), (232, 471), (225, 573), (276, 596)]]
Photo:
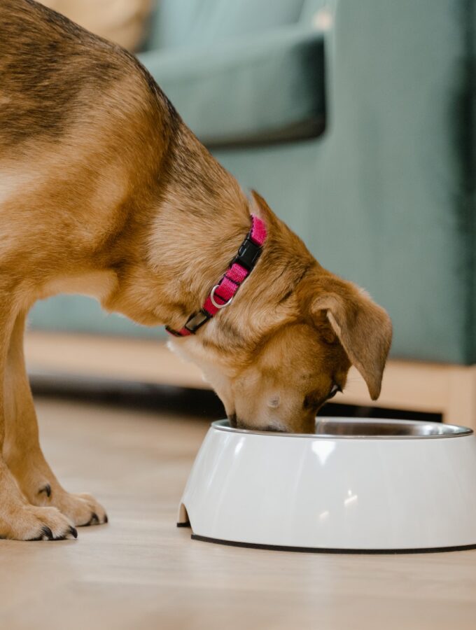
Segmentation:
[[(392, 356), (476, 363), (476, 0), (162, 0), (139, 57), (322, 265), (391, 314)], [(34, 328), (161, 334), (83, 297)]]

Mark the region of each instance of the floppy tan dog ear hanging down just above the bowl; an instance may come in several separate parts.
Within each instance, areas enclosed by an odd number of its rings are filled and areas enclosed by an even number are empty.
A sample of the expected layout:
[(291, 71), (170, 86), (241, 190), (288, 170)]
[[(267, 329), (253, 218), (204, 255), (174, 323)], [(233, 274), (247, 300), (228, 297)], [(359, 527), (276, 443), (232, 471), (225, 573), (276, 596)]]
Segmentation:
[(314, 316), (325, 311), (349, 360), (362, 374), (372, 400), (379, 398), (381, 379), (392, 339), (391, 319), (384, 309), (350, 282), (335, 276), (320, 279), (311, 302)]

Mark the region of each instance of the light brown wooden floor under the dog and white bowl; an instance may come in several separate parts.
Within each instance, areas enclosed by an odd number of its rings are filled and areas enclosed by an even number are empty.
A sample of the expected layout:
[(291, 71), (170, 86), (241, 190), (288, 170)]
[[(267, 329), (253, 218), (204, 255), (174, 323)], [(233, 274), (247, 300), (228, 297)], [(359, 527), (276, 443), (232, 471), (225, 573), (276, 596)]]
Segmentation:
[(221, 547), (177, 529), (206, 424), (40, 399), (43, 449), (110, 523), (0, 541), (5, 630), (474, 630), (476, 551), (336, 556)]

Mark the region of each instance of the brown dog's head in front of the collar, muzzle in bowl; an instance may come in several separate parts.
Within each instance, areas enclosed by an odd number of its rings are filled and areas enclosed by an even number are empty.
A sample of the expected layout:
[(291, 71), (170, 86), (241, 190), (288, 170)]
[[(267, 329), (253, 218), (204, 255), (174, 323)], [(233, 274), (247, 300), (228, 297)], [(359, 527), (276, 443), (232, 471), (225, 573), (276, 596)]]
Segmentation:
[(237, 302), (196, 340), (195, 360), (233, 426), (310, 433), (351, 364), (378, 398), (391, 321), (367, 293), (318, 265), (258, 201), (270, 228), (267, 251)]

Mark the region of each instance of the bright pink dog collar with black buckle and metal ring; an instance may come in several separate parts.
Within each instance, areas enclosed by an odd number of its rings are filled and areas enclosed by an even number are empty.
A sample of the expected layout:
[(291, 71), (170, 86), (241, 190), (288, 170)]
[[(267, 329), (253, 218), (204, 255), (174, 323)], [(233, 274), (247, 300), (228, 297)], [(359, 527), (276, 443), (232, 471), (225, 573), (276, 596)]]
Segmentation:
[(228, 306), (241, 283), (251, 274), (253, 267), (262, 252), (262, 245), (266, 240), (266, 226), (260, 218), (251, 215), (251, 230), (246, 239), (239, 246), (237, 256), (230, 263), (222, 279), (211, 289), (207, 300), (197, 313), (190, 315), (186, 324), (180, 330), (172, 330), (165, 326), (165, 330), (175, 337), (188, 337), (207, 323), (221, 309)]

